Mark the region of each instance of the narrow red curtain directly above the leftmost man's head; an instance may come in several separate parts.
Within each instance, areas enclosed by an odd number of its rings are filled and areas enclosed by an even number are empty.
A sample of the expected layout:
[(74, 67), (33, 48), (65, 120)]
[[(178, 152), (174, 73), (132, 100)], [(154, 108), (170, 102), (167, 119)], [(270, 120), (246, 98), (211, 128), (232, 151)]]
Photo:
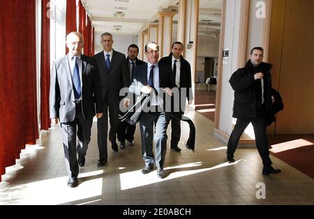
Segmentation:
[[(66, 35), (73, 31), (77, 31), (76, 0), (66, 0)], [(66, 54), (68, 54), (68, 47), (66, 47)]]

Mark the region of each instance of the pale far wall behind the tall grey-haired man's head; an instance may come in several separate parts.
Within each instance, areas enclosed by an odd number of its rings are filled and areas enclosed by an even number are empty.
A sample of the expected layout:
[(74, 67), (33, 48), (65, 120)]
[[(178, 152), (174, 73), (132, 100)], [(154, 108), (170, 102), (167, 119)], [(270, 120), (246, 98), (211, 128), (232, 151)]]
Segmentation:
[[(100, 44), (100, 36), (103, 32), (95, 32), (95, 54), (103, 51), (103, 46)], [(128, 55), (128, 46), (130, 44), (137, 44), (137, 35), (122, 35), (112, 33), (114, 44), (112, 48), (122, 54)]]

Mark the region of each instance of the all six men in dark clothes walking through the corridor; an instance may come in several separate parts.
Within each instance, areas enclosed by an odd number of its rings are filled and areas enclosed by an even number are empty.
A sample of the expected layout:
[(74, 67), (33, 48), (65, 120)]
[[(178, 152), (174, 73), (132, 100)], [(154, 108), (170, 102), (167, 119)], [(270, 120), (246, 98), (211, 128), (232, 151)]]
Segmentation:
[[(111, 33), (103, 33), (100, 43), (103, 45), (103, 51), (96, 54), (94, 58), (84, 56), (82, 34), (69, 33), (66, 37), (69, 53), (52, 64), (50, 118), (54, 124), (61, 123), (66, 170), (69, 177), (68, 186), (78, 185), (78, 166), (82, 167), (85, 164), (94, 116), (97, 117), (98, 129), (98, 167), (107, 163), (108, 137), (114, 152), (119, 152), (119, 147), (124, 149), (126, 144), (133, 146), (135, 124), (119, 121), (119, 113), (122, 108), (134, 104), (135, 99), (139, 99), (141, 95), (149, 95), (151, 109), (140, 114), (142, 158), (145, 163), (142, 173), (147, 174), (154, 170), (155, 163), (157, 176), (164, 178), (167, 125), (171, 121), (171, 148), (180, 152), (179, 118), (184, 114), (186, 100), (188, 104), (193, 102), (190, 64), (182, 56), (184, 45), (181, 42), (174, 42), (170, 55), (159, 60), (158, 44), (148, 42), (144, 48), (147, 63), (144, 63), (137, 58), (139, 48), (136, 44), (130, 44), (126, 58), (124, 54), (112, 49), (114, 40)], [(234, 152), (241, 133), (247, 124), (252, 122), (257, 133), (258, 152), (264, 164), (262, 173), (268, 175), (278, 173), (280, 170), (271, 167), (267, 146), (266, 106), (274, 100), (271, 99), (268, 89), (271, 86), (270, 68), (266, 64), (262, 63), (262, 49), (254, 48), (247, 66), (243, 70), (234, 72), (230, 79), (235, 90), (234, 117), (237, 117), (238, 121), (228, 143), (227, 160), (234, 162)], [(260, 81), (264, 83), (261, 84)], [(135, 98), (128, 99), (121, 96), (122, 88), (128, 88), (131, 97)], [(178, 99), (174, 98), (176, 95), (173, 90), (176, 89), (179, 91)], [(252, 105), (253, 111), (252, 109), (248, 111), (246, 106), (240, 103), (241, 98), (249, 95), (255, 100), (255, 105)], [(165, 106), (167, 98), (172, 98), (170, 111), (167, 111)], [(175, 111), (173, 105), (178, 102), (181, 107)], [(155, 152), (153, 152), (153, 140), (156, 143)]]

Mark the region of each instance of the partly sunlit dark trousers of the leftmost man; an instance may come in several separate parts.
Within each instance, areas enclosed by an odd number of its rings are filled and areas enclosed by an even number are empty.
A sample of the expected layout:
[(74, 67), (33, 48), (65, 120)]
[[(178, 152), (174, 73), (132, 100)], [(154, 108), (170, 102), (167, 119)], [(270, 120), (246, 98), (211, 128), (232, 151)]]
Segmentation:
[[(81, 104), (75, 106), (75, 119), (72, 122), (61, 123), (62, 141), (66, 161), (66, 171), (69, 178), (77, 177), (79, 173), (77, 154), (85, 156), (91, 140), (93, 120), (85, 120)], [(76, 136), (78, 143), (76, 144)]]

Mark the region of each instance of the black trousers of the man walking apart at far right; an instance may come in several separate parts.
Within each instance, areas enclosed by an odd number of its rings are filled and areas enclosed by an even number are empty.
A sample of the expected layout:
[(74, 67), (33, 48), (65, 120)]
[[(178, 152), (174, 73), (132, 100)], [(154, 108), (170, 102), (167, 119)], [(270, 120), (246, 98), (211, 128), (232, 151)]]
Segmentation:
[(239, 140), (241, 138), (242, 133), (250, 124), (253, 125), (254, 133), (255, 133), (255, 143), (262, 158), (262, 162), (264, 167), (271, 165), (271, 159), (269, 158), (269, 149), (268, 149), (268, 140), (266, 135), (266, 116), (264, 114), (259, 114), (255, 118), (246, 118), (240, 117), (237, 119), (237, 123), (234, 126), (234, 129), (230, 135), (228, 145), (227, 145), (227, 157), (233, 158), (234, 152), (237, 149)]

